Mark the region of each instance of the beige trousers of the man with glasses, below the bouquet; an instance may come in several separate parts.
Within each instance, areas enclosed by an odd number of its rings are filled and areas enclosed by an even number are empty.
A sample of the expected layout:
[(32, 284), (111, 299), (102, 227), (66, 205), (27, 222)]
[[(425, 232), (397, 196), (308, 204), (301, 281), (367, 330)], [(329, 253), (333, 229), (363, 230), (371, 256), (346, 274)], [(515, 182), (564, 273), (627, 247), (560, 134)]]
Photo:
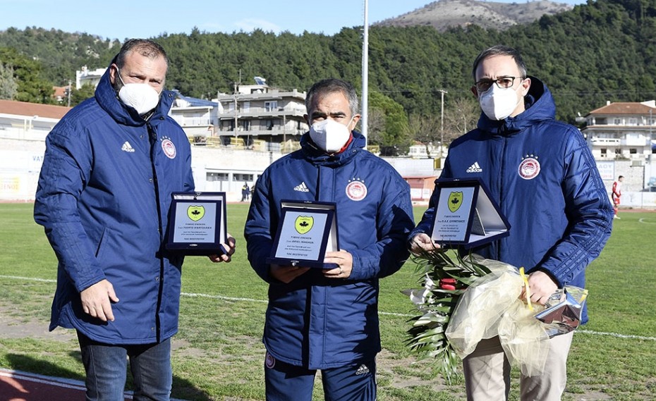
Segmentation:
[[(549, 340), (545, 372), (521, 375), (521, 401), (560, 401), (567, 382), (567, 354), (574, 333)], [(510, 392), (510, 364), (499, 338), (482, 340), (463, 360), (468, 401), (505, 401)]]

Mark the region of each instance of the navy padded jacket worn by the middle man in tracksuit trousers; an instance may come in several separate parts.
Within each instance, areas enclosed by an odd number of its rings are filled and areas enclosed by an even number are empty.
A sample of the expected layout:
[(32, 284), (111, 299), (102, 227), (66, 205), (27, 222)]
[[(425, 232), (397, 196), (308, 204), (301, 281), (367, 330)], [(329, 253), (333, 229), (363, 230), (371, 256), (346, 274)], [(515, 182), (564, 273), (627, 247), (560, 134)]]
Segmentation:
[[(401, 268), (414, 226), (408, 183), (353, 135), (336, 156), (303, 135), (302, 149), (258, 178), (244, 230), (250, 264), (269, 283), (265, 346), (276, 359), (308, 369), (346, 366), (380, 351), (378, 279)], [(350, 278), (324, 278), (321, 269), (288, 284), (269, 276), (281, 199), (336, 203), (339, 247), (353, 255)]]

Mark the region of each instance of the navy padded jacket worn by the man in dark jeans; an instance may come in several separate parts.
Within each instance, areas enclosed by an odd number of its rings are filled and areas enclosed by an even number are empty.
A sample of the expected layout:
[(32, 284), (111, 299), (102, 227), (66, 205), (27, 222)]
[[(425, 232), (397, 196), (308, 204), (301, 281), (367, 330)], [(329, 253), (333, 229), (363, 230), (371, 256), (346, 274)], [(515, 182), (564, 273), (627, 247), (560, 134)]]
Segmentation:
[[(145, 121), (123, 105), (109, 69), (95, 97), (69, 111), (46, 139), (35, 201), (57, 259), (50, 329), (92, 340), (145, 344), (178, 329), (182, 257), (162, 249), (171, 192), (191, 191), (189, 141), (167, 113), (165, 91)], [(119, 302), (114, 321), (85, 314), (80, 291), (107, 278)]]

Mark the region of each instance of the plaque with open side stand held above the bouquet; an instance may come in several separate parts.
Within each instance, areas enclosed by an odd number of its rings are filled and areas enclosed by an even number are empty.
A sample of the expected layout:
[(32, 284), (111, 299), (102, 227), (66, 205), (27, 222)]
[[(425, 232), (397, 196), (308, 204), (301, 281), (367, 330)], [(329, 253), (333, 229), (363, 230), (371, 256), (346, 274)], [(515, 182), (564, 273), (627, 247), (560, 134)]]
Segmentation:
[(431, 239), (476, 247), (509, 235), (510, 224), (480, 180), (437, 180)]

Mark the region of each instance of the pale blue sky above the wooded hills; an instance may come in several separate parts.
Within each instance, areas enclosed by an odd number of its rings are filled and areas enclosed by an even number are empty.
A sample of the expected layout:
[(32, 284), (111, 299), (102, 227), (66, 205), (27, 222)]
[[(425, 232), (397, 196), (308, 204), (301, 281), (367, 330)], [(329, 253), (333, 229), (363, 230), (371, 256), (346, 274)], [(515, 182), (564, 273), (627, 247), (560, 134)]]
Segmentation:
[[(497, 0), (511, 3), (512, 0)], [(515, 0), (521, 1), (521, 0)], [(526, 1), (526, 0), (524, 0)], [(430, 0), (369, 0), (369, 22), (414, 11)], [(583, 4), (584, 0), (559, 3)], [(155, 37), (167, 32), (250, 32), (255, 28), (294, 34), (334, 35), (363, 25), (363, 0), (0, 0), (0, 30), (44, 27), (87, 32), (105, 39)]]

